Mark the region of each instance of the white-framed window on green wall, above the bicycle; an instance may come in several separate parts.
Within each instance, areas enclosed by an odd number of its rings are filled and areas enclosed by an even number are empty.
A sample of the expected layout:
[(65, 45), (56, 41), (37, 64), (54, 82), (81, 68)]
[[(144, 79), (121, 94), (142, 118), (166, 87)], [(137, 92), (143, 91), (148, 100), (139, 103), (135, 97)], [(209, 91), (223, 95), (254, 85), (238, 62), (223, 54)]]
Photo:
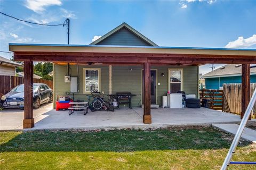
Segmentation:
[(84, 93), (90, 93), (92, 90), (100, 91), (100, 69), (84, 68)]

